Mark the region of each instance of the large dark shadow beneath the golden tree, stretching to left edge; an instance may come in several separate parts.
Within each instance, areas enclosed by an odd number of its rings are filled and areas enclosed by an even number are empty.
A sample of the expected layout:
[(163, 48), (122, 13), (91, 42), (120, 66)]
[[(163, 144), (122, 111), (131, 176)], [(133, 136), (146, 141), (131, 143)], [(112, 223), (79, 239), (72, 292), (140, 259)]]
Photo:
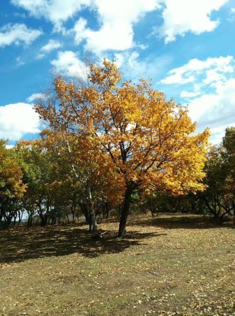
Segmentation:
[(160, 235), (132, 231), (128, 232), (126, 239), (119, 239), (116, 231), (107, 231), (101, 239), (92, 240), (88, 230), (79, 226), (3, 231), (0, 234), (0, 264), (72, 253), (96, 258), (102, 254), (122, 252), (139, 245), (141, 240)]

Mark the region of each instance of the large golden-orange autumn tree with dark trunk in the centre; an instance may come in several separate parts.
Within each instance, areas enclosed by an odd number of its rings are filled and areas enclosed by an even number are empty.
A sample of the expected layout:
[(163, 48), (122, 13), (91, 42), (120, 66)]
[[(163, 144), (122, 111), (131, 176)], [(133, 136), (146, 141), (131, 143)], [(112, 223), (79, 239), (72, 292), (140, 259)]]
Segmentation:
[[(121, 176), (124, 201), (118, 235), (124, 237), (136, 188), (173, 194), (203, 188), (208, 130), (192, 134), (196, 124), (187, 108), (166, 100), (143, 79), (137, 84), (121, 82), (113, 62), (104, 60), (101, 67), (91, 64), (89, 80), (89, 86), (79, 87), (59, 76), (54, 80), (57, 102), (41, 103), (35, 109), (56, 137), (63, 138), (72, 168), (79, 152), (83, 161), (96, 159), (99, 170), (104, 162)], [(74, 150), (69, 138), (77, 146)]]

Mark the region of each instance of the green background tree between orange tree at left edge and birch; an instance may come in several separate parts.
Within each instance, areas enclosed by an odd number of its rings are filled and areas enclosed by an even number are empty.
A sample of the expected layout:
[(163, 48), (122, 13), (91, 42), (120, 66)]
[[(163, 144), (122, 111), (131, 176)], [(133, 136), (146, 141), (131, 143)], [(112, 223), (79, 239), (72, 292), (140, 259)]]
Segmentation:
[(37, 212), (41, 219), (41, 226), (54, 218), (55, 196), (59, 186), (57, 166), (51, 160), (41, 140), (21, 141), (16, 145), (16, 155), (23, 171), (23, 180), (27, 190), (22, 203), (28, 212), (28, 225)]

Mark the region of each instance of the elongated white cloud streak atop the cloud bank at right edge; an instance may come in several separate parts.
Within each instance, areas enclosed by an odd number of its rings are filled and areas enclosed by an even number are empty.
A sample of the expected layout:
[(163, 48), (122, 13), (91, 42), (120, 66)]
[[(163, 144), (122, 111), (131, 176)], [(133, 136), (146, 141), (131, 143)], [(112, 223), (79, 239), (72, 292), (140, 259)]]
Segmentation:
[(213, 76), (215, 76), (215, 74), (222, 78), (220, 73), (233, 72), (233, 67), (231, 66), (232, 59), (232, 56), (220, 56), (219, 58), (207, 58), (206, 60), (199, 60), (197, 58), (191, 59), (187, 64), (170, 70), (168, 76), (162, 79), (161, 83), (186, 84), (194, 82), (196, 76), (210, 69), (213, 71), (207, 71), (206, 80), (208, 83), (212, 82), (214, 81)]

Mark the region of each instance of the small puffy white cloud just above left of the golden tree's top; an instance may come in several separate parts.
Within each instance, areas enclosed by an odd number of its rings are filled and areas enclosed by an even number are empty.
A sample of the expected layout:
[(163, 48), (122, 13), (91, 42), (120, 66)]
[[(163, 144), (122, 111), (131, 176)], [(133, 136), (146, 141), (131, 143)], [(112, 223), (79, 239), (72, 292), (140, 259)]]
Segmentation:
[(69, 76), (86, 76), (86, 65), (72, 51), (58, 53), (58, 58), (51, 61), (55, 70)]

